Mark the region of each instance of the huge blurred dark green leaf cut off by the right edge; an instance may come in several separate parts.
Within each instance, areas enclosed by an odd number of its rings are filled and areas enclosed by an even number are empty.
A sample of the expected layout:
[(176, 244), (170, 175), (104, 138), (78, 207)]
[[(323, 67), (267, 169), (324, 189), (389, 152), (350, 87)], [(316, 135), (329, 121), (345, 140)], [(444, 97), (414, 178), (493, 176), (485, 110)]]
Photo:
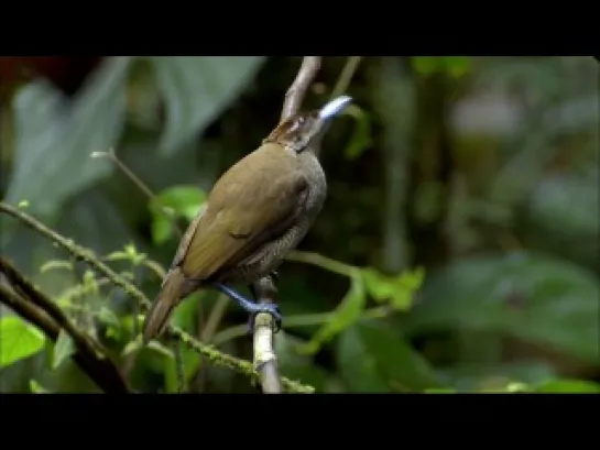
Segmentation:
[(432, 274), (406, 326), (500, 332), (598, 363), (599, 296), (598, 278), (564, 261), (477, 256)]

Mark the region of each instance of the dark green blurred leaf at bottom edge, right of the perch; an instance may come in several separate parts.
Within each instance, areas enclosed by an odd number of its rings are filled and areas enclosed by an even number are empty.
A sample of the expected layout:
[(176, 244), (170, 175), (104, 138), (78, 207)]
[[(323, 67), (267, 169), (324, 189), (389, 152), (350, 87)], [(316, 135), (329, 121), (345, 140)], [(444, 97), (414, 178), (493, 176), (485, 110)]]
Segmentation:
[[(383, 385), (392, 391), (439, 388), (429, 363), (397, 332), (380, 322), (361, 321), (339, 338), (338, 363), (350, 386)], [(388, 388), (386, 388), (388, 389)]]

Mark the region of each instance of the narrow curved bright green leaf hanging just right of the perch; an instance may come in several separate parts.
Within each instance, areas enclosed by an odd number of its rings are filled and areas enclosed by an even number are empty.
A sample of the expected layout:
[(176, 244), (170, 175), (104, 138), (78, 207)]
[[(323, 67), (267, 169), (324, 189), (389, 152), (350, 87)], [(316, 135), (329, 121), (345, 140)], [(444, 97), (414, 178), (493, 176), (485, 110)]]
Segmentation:
[(360, 276), (360, 272), (357, 271), (350, 277), (350, 289), (348, 289), (340, 305), (331, 314), (331, 318), (315, 332), (309, 342), (301, 345), (299, 351), (305, 354), (318, 352), (325, 342), (360, 318), (366, 300), (362, 277)]

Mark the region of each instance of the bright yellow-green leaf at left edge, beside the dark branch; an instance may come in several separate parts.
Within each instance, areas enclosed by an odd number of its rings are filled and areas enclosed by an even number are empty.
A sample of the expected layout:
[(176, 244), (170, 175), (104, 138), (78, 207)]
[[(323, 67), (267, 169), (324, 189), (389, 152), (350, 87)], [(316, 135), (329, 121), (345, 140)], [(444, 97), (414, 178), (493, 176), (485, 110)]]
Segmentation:
[(44, 334), (15, 316), (0, 319), (0, 367), (29, 358), (44, 348)]

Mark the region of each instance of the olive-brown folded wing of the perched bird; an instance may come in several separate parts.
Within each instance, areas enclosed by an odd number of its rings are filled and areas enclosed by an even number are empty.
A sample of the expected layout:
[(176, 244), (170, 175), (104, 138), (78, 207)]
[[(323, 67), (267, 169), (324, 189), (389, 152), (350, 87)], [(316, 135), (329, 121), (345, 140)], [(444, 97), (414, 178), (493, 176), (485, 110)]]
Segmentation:
[(281, 147), (248, 155), (217, 182), (207, 209), (182, 239), (174, 265), (197, 281), (233, 267), (287, 230), (307, 190), (306, 178)]

